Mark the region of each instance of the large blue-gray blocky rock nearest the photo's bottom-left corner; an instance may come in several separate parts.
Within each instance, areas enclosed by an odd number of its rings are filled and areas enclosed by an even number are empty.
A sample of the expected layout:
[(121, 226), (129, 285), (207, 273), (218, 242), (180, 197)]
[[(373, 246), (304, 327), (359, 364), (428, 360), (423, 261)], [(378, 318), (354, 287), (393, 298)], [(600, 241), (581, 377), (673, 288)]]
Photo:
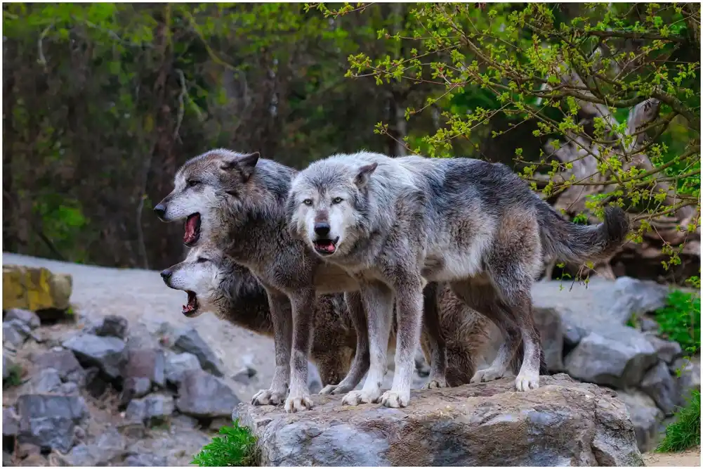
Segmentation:
[(20, 415), (18, 442), (40, 446), (44, 451), (66, 453), (74, 442), (75, 426), (89, 416), (82, 397), (25, 394), (17, 399)]

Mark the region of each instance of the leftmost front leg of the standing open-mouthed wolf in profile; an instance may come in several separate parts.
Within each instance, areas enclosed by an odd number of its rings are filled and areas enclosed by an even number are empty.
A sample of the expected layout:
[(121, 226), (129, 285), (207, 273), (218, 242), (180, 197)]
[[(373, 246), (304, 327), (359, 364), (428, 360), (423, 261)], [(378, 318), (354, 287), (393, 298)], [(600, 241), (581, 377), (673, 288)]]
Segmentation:
[(276, 371), (269, 389), (262, 389), (252, 397), (254, 406), (271, 404), (277, 406), (285, 399), (290, 382), (290, 342), (292, 338), (292, 317), (290, 301), (282, 292), (266, 289), (269, 296), (269, 309), (273, 323), (273, 345), (276, 348)]

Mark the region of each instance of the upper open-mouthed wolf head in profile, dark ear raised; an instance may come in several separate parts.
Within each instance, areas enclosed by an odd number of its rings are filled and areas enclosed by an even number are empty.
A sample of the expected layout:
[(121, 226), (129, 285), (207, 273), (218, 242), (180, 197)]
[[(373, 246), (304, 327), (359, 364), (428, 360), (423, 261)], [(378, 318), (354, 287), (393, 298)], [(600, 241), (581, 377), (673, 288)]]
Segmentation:
[(221, 222), (225, 202), (233, 211), (247, 199), (258, 153), (215, 149), (188, 160), (176, 173), (174, 189), (154, 207), (165, 222), (185, 221), (183, 242), (195, 246), (208, 239)]

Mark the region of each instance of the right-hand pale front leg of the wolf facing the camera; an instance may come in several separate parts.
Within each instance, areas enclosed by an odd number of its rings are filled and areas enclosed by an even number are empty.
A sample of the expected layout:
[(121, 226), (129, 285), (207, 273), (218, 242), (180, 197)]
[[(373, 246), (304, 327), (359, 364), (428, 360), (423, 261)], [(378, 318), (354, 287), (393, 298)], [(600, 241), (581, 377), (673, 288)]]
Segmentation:
[(423, 284), (420, 275), (407, 273), (394, 279), (396, 287), (395, 375), (391, 389), (381, 396), (386, 407), (405, 407), (410, 402), (410, 386), (415, 372), (415, 349), (423, 325)]

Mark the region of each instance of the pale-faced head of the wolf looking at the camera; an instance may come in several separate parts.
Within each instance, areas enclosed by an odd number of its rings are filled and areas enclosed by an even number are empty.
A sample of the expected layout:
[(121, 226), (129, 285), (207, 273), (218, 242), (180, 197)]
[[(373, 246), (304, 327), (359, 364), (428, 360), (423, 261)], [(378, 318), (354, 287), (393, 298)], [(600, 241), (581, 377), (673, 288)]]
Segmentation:
[(368, 179), (378, 163), (327, 158), (292, 180), (290, 229), (321, 257), (348, 254), (368, 223)]

